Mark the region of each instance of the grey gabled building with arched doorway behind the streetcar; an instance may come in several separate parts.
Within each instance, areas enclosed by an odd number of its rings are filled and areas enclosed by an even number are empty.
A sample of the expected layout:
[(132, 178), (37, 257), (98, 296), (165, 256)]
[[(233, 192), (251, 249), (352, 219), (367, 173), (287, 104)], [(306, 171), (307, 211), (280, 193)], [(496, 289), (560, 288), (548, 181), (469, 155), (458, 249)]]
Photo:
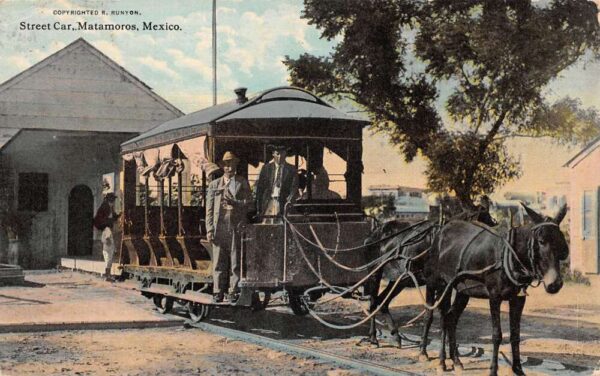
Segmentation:
[(19, 263), (101, 258), (92, 218), (119, 190), (120, 144), (181, 115), (84, 39), (0, 84), (0, 209), (31, 218)]

